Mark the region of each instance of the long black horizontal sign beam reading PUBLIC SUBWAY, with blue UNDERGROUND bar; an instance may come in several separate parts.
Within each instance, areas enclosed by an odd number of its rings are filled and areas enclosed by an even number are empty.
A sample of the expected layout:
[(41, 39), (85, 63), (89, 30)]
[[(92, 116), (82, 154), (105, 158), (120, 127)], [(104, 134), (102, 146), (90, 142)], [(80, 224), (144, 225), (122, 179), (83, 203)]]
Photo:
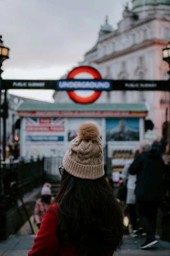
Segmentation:
[[(97, 79), (95, 79), (96, 81)], [(43, 89), (60, 91), (57, 85), (60, 81), (72, 82), (72, 87), (68, 87), (66, 91), (72, 90), (94, 90), (94, 91), (170, 91), (169, 80), (102, 80), (102, 82), (109, 82), (111, 87), (109, 89), (101, 89), (93, 87), (92, 80), (79, 79), (79, 82), (91, 82), (89, 88), (77, 88), (76, 79), (66, 80), (2, 80), (2, 90), (8, 89)], [(94, 80), (93, 80), (94, 81)], [(75, 85), (74, 85), (75, 82)], [(95, 86), (95, 85), (94, 85)]]

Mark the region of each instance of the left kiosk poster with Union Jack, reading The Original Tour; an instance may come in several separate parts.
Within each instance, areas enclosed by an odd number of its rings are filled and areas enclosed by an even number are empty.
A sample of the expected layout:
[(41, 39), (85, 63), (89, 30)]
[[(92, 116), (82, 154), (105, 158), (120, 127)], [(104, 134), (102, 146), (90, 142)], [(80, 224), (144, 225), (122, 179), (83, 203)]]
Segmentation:
[(62, 153), (65, 139), (65, 118), (24, 118), (24, 152), (27, 157), (52, 156)]

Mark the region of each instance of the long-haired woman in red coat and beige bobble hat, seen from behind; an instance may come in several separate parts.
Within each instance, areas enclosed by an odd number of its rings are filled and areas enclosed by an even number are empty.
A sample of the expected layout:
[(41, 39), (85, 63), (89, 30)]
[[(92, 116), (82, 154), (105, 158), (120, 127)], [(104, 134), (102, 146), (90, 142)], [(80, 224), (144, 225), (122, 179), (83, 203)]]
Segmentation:
[(120, 248), (123, 219), (104, 178), (100, 128), (85, 122), (64, 156), (59, 192), (29, 256), (112, 256)]

